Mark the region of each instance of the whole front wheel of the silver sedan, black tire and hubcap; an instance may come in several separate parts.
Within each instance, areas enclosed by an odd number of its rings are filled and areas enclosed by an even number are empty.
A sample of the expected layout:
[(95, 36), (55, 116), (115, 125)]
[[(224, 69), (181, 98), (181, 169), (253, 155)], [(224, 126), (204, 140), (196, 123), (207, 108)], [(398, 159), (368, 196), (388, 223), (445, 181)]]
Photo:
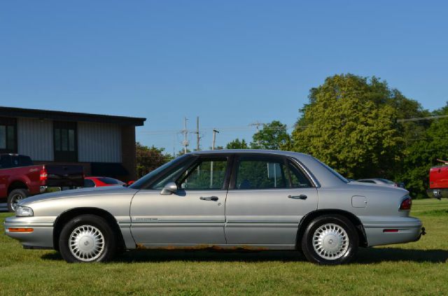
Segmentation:
[[(92, 237), (85, 237), (80, 232), (95, 232), (102, 239), (94, 241)], [(99, 233), (98, 233), (99, 232)], [(76, 240), (76, 238), (80, 238)], [(70, 241), (78, 246), (78, 252), (69, 246)], [(79, 241), (79, 244), (77, 242)], [(81, 250), (80, 248), (92, 248), (93, 251)], [(100, 248), (101, 250), (97, 250)], [(71, 219), (62, 228), (59, 236), (59, 251), (66, 262), (107, 262), (112, 260), (117, 251), (117, 239), (112, 227), (107, 221), (95, 215), (81, 215)], [(73, 251), (73, 252), (72, 252)], [(87, 253), (93, 255), (89, 255)], [(85, 258), (83, 255), (87, 254)]]

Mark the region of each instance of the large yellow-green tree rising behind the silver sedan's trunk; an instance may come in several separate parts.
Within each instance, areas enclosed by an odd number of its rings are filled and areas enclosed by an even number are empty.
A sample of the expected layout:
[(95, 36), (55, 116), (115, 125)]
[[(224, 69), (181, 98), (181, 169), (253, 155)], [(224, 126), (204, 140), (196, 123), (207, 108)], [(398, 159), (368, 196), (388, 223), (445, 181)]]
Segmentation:
[(346, 74), (312, 88), (300, 111), (293, 150), (349, 178), (393, 178), (405, 156), (404, 128), (397, 119), (420, 114), (421, 106), (378, 78)]

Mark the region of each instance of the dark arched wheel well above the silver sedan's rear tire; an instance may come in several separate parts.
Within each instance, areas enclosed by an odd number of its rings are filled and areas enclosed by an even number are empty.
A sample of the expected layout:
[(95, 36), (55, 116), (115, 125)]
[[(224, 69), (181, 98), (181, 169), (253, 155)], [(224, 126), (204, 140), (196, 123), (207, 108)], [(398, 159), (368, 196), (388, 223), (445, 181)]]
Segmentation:
[(358, 217), (356, 217), (355, 215), (353, 215), (353, 213), (350, 213), (348, 211), (342, 211), (342, 210), (337, 210), (337, 209), (325, 209), (325, 210), (318, 210), (318, 211), (313, 211), (311, 213), (308, 213), (306, 216), (304, 216), (302, 218), (302, 220), (300, 220), (299, 230), (297, 230), (296, 248), (298, 248), (298, 249), (301, 248), (301, 246), (302, 246), (301, 241), (302, 241), (303, 234), (304, 234), (305, 230), (307, 229), (307, 226), (309, 225), (311, 220), (313, 220), (314, 218), (317, 218), (318, 216), (328, 215), (328, 214), (330, 214), (330, 215), (337, 214), (337, 215), (344, 216), (345, 218), (349, 219), (350, 222), (353, 223), (353, 225), (355, 226), (356, 232), (358, 232), (359, 246), (367, 246), (367, 237), (365, 236), (363, 223), (361, 223), (361, 221), (359, 220)]

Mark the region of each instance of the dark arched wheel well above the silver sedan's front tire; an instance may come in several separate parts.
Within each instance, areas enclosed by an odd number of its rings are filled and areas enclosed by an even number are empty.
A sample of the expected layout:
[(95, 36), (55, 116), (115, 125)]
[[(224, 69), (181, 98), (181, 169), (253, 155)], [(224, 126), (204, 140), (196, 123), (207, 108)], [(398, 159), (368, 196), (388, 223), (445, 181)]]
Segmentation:
[(66, 211), (59, 215), (59, 217), (55, 220), (55, 226), (53, 228), (53, 247), (56, 251), (59, 251), (59, 236), (62, 232), (62, 228), (64, 225), (69, 222), (69, 220), (75, 218), (80, 215), (95, 215), (104, 218), (107, 223), (112, 227), (113, 232), (118, 235), (118, 248), (125, 249), (125, 240), (123, 239), (123, 234), (120, 231), (120, 227), (118, 226), (118, 222), (115, 217), (112, 216), (108, 211), (104, 211), (103, 209), (98, 208), (76, 208)]

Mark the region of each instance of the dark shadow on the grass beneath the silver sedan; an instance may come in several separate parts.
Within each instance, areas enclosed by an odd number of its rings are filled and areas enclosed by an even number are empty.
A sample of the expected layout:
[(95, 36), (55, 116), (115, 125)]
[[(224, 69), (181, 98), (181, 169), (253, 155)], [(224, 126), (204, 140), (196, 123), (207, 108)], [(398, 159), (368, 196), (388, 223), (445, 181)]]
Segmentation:
[[(46, 253), (43, 260), (62, 260), (59, 253)], [(403, 248), (360, 248), (353, 263), (381, 262), (447, 262), (446, 250), (415, 250)], [(305, 262), (300, 252), (294, 251), (129, 251), (118, 255), (113, 262)]]

